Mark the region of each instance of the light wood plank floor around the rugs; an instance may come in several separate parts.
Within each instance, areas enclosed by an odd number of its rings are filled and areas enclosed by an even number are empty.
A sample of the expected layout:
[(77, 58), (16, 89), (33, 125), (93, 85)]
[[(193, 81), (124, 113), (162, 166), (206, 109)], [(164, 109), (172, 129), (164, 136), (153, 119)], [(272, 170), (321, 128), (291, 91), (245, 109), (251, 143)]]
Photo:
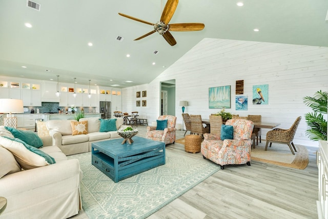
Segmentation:
[[(146, 135), (145, 126), (138, 129), (139, 136)], [(177, 131), (176, 139), (184, 133)], [(310, 162), (304, 170), (256, 161), (226, 166), (148, 218), (317, 218), (317, 148), (307, 148)], [(180, 144), (166, 150), (211, 162), (201, 153), (185, 152)], [(80, 212), (73, 218), (88, 217)]]

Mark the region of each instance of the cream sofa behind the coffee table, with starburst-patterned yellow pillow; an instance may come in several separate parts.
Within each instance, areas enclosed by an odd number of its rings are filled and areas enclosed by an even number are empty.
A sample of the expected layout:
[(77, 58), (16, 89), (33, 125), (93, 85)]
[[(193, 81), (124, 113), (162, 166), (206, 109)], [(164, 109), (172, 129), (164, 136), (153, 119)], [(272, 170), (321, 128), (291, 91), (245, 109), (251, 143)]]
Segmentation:
[[(49, 120), (47, 128), (52, 136), (53, 144), (63, 151), (66, 155), (84, 153), (91, 151), (93, 142), (110, 140), (120, 137), (117, 131), (99, 132), (100, 121), (98, 117), (81, 118), (79, 120), (88, 121), (88, 133), (72, 135), (70, 120)], [(123, 118), (118, 117), (116, 120), (116, 129), (127, 127), (123, 125)]]

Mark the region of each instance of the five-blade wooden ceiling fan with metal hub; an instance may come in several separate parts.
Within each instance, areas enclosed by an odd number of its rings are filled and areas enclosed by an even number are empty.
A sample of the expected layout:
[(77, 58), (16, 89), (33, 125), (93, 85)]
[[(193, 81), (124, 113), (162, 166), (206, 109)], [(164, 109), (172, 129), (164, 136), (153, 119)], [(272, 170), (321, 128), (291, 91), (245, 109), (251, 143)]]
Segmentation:
[(162, 15), (160, 17), (160, 21), (156, 24), (152, 24), (150, 22), (142, 21), (139, 18), (135, 18), (126, 14), (118, 13), (121, 16), (133, 19), (134, 21), (149, 24), (154, 26), (154, 30), (146, 33), (145, 35), (142, 35), (136, 39), (135, 41), (138, 41), (139, 39), (142, 39), (146, 36), (149, 36), (152, 33), (155, 33), (156, 31), (162, 35), (166, 41), (171, 45), (174, 46), (176, 44), (176, 41), (172, 34), (169, 31), (196, 31), (196, 30), (202, 30), (204, 29), (205, 25), (201, 23), (180, 23), (180, 24), (169, 24), (176, 7), (178, 6), (178, 0), (168, 0), (166, 3), (164, 10), (162, 12)]

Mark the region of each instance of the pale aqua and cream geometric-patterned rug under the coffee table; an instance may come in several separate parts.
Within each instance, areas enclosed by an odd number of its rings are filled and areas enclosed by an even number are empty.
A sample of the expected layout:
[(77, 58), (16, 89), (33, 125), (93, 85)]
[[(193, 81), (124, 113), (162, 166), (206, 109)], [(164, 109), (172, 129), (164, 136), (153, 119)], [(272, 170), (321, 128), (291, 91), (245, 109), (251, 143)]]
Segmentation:
[(91, 164), (91, 152), (77, 158), (83, 171), (83, 208), (93, 218), (145, 218), (187, 192), (218, 165), (166, 150), (166, 164), (114, 183)]

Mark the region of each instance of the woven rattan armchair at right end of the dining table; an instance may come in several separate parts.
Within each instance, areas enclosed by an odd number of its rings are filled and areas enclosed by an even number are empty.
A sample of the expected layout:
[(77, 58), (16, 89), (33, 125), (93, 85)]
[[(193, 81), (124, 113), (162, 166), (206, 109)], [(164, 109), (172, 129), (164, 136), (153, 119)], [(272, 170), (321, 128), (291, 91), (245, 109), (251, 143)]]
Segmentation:
[[(293, 148), (296, 151), (295, 145), (293, 143), (294, 135), (298, 127), (299, 122), (301, 121), (301, 116), (297, 117), (294, 124), (289, 129), (273, 129), (267, 133), (267, 144), (265, 144), (265, 151), (268, 149), (268, 144), (270, 142), (270, 147), (272, 143), (286, 144), (292, 151), (292, 154), (295, 155)], [(292, 148), (293, 146), (293, 148)]]

